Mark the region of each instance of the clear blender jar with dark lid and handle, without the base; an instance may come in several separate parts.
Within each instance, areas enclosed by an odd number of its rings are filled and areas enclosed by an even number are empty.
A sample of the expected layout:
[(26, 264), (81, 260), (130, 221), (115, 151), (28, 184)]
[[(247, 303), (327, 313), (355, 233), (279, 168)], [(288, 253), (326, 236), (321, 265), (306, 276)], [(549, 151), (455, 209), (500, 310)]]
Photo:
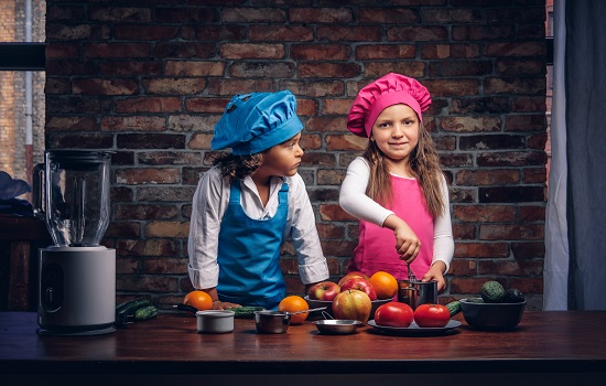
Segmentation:
[(55, 246), (99, 246), (109, 224), (110, 159), (107, 151), (51, 150), (35, 167), (34, 214)]

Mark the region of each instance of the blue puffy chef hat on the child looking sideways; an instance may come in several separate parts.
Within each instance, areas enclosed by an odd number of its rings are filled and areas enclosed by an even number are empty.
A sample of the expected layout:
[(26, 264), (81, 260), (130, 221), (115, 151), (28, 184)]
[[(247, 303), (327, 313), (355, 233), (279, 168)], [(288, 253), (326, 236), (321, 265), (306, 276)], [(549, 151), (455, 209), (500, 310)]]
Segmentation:
[(248, 156), (282, 143), (303, 130), (296, 116), (296, 99), (289, 90), (236, 95), (215, 125), (213, 150), (231, 148)]

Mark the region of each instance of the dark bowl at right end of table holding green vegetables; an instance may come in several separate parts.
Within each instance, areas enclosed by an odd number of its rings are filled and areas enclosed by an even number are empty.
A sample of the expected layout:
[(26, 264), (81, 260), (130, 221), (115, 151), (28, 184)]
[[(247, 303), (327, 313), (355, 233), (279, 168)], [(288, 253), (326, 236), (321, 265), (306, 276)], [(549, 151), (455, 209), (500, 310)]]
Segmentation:
[(485, 303), (481, 298), (461, 299), (463, 318), (478, 330), (511, 330), (522, 320), (526, 301), (521, 303)]

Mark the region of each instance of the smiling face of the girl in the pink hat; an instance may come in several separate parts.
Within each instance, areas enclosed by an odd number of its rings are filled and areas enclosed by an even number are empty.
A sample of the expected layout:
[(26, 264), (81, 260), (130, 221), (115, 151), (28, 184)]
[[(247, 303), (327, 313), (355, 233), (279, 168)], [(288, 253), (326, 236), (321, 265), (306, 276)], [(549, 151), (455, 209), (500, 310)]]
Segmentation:
[(386, 157), (408, 161), (419, 143), (419, 118), (408, 105), (392, 105), (377, 117), (370, 139)]

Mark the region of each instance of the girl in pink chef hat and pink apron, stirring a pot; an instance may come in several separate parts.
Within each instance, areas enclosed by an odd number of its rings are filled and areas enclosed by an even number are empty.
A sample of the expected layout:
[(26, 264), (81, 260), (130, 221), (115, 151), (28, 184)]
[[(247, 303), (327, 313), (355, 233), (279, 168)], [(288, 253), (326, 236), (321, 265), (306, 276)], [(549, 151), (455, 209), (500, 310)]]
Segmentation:
[(446, 180), (423, 127), (430, 105), (428, 89), (400, 74), (359, 90), (347, 128), (369, 141), (347, 169), (339, 205), (359, 218), (347, 271), (382, 270), (403, 280), (410, 264), (420, 280), (436, 280), (442, 291), (454, 242)]

